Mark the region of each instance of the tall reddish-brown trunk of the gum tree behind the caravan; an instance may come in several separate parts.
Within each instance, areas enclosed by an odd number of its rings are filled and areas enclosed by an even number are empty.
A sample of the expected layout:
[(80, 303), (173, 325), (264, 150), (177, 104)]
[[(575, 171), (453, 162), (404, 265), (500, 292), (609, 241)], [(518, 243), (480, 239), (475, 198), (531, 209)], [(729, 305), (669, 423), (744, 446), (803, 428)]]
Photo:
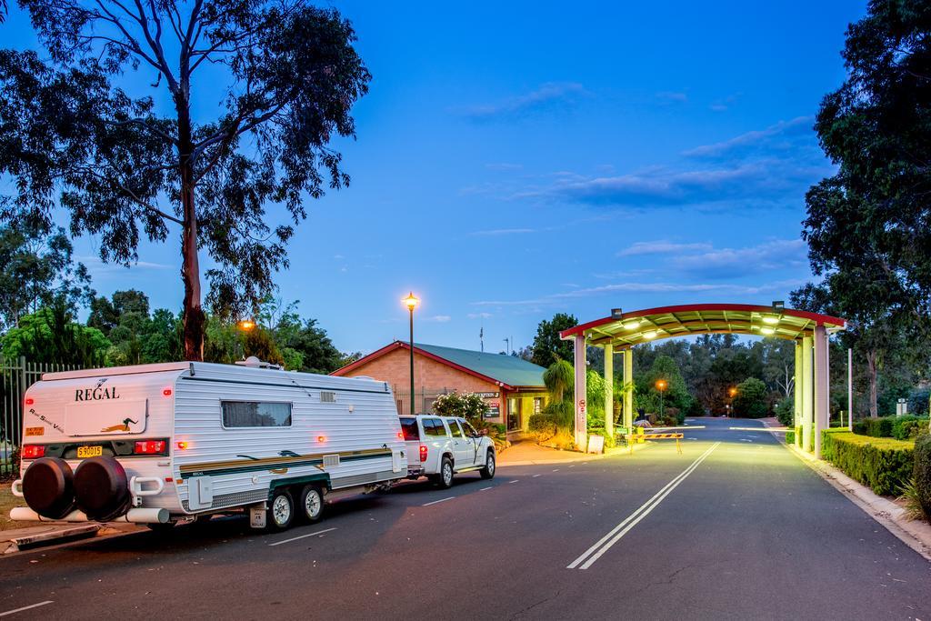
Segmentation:
[(192, 140), (190, 103), (187, 98), (186, 85), (182, 87), (182, 92), (175, 94), (175, 106), (178, 111), (178, 172), (181, 178), (182, 220), (184, 222), (181, 240), (181, 277), (184, 283), (184, 359), (203, 360), (206, 317), (200, 304), (197, 211), (194, 203), (194, 164), (191, 161), (194, 141)]

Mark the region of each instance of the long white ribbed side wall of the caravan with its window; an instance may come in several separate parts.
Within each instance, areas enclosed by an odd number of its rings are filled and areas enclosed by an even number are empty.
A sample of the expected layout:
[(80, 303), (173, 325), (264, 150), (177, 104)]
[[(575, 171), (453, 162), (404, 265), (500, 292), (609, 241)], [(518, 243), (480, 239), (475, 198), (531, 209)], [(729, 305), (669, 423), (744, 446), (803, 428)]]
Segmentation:
[[(252, 403), (263, 404), (263, 423), (280, 422), (280, 404), (289, 404), (290, 425), (238, 426), (255, 415)], [(391, 392), (365, 380), (197, 364), (178, 380), (175, 440), (187, 512), (261, 502), (283, 479), (340, 489), (398, 479), (407, 468)]]

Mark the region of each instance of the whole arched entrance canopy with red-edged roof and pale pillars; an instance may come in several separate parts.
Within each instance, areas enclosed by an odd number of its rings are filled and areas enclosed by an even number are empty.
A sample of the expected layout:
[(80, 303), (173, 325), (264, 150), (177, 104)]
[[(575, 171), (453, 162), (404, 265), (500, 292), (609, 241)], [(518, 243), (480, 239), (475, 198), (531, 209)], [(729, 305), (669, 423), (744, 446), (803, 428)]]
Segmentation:
[[(579, 324), (560, 332), (573, 341), (575, 361), (575, 444), (587, 445), (586, 349), (604, 349), (605, 379), (614, 377), (614, 350), (624, 356), (624, 385), (633, 383), (633, 351), (637, 344), (674, 336), (698, 334), (749, 334), (795, 342), (795, 425), (802, 433), (796, 440), (807, 451), (821, 456), (821, 429), (828, 426), (828, 337), (842, 331), (840, 317), (786, 308), (781, 302), (770, 306), (752, 304), (683, 304), (660, 306), (624, 313), (612, 309), (609, 317)], [(614, 434), (614, 382), (605, 382), (605, 432)], [(633, 425), (633, 392), (624, 393), (624, 426)]]

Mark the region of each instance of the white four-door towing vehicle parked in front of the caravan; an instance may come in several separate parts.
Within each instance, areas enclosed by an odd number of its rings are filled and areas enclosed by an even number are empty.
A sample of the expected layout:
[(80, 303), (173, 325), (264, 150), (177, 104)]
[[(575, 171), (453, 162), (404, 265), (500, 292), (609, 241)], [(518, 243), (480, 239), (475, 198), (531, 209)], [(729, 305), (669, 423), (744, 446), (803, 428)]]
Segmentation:
[(401, 416), (407, 442), (408, 479), (426, 477), (446, 489), (452, 475), (478, 470), (482, 479), (494, 476), (494, 442), (462, 418), (418, 414)]

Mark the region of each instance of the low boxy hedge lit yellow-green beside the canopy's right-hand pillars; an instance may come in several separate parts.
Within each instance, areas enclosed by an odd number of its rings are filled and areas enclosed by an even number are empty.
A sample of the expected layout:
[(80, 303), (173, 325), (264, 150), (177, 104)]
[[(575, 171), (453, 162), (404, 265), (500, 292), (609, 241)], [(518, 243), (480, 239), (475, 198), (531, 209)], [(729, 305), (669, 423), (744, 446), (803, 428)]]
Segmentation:
[(870, 489), (895, 495), (911, 479), (914, 442), (891, 438), (868, 438), (843, 429), (824, 430), (821, 458), (843, 470)]

